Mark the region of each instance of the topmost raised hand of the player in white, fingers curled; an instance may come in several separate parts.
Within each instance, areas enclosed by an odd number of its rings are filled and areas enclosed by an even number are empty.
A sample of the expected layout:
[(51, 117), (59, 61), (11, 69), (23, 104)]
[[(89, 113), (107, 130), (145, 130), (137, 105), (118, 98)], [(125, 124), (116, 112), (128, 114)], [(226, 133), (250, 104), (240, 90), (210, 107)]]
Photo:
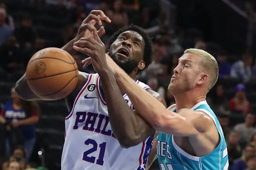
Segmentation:
[[(103, 11), (100, 10), (92, 10), (90, 14), (85, 18), (82, 22), (81, 26), (78, 29), (77, 35), (75, 37), (75, 41), (85, 37), (85, 38), (93, 38), (91, 31), (88, 30), (88, 27), (94, 26), (96, 23), (102, 25), (101, 20), (105, 20), (107, 22), (111, 22), (111, 20), (104, 14)], [(101, 37), (104, 33), (104, 27), (101, 26), (100, 29), (97, 31), (99, 37)]]

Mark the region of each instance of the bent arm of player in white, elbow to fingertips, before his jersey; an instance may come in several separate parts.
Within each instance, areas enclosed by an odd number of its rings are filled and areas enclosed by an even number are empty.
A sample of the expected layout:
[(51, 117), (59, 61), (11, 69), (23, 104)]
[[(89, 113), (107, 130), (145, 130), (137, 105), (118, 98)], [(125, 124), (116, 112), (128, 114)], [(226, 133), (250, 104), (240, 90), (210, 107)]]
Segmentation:
[[(93, 67), (101, 79), (101, 88), (107, 103), (109, 122), (120, 145), (124, 148), (138, 145), (149, 136), (153, 136), (155, 130), (127, 105), (113, 73), (106, 64), (105, 46), (99, 39), (96, 29), (94, 28), (92, 31), (94, 39), (80, 39), (74, 44), (74, 49), (92, 57)], [(87, 48), (78, 46), (86, 46)], [(139, 88), (143, 90), (141, 87)], [(146, 93), (151, 93), (158, 100), (164, 101), (156, 92), (149, 90)], [(149, 95), (151, 96), (151, 94)], [(163, 107), (165, 106), (163, 105)]]

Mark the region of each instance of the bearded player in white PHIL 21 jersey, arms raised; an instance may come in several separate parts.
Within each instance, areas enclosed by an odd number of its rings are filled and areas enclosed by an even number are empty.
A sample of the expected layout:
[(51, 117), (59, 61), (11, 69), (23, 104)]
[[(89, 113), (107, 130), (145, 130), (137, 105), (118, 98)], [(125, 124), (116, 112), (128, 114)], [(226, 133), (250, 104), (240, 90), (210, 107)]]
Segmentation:
[[(109, 21), (102, 11), (92, 11), (79, 28), (78, 36), (62, 49), (70, 54), (73, 48), (87, 49), (82, 47), (91, 46), (104, 33), (102, 27), (92, 32), (95, 21), (99, 23), (103, 19)], [(152, 42), (147, 33), (129, 25), (114, 33), (110, 44), (109, 54), (115, 62), (141, 89), (166, 107), (159, 94), (135, 79), (136, 72), (152, 62)], [(97, 48), (105, 55), (103, 43)], [(145, 170), (155, 129), (136, 114), (113, 74), (96, 71), (96, 74), (79, 72), (75, 90), (65, 98), (69, 113), (65, 120), (61, 169)], [(54, 100), (37, 97), (27, 85), (26, 74), (17, 82), (15, 90), (25, 100)]]

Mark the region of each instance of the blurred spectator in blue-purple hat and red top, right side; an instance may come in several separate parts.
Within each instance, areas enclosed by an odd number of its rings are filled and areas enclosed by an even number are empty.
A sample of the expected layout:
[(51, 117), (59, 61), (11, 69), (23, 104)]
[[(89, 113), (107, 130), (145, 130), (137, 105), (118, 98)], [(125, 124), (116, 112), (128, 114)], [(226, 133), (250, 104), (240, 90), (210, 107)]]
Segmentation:
[(229, 108), (232, 112), (243, 113), (251, 110), (251, 104), (246, 98), (246, 87), (244, 84), (237, 84), (235, 87), (235, 97), (229, 101)]

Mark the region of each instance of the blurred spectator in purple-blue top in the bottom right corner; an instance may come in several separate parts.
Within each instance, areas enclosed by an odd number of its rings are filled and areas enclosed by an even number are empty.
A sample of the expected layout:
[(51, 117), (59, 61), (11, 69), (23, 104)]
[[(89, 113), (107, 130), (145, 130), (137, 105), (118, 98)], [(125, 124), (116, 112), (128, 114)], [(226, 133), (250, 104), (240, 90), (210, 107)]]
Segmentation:
[(238, 159), (237, 161), (235, 161), (232, 170), (245, 170), (247, 168), (247, 161), (248, 158), (255, 155), (255, 148), (253, 144), (248, 144), (244, 151), (243, 151), (243, 155), (240, 159)]

